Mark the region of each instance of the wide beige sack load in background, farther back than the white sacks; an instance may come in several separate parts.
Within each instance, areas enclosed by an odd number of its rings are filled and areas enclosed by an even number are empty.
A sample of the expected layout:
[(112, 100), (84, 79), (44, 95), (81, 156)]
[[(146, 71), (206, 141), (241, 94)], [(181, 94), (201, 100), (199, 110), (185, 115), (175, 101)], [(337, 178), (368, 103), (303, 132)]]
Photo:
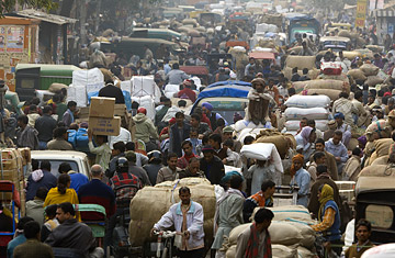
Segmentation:
[(297, 72), (302, 76), (303, 69), (308, 69), (308, 78), (316, 79), (319, 75), (319, 70), (316, 69), (315, 56), (289, 56), (285, 60), (285, 67), (283, 74), (285, 78), (291, 80), (292, 69), (297, 67)]

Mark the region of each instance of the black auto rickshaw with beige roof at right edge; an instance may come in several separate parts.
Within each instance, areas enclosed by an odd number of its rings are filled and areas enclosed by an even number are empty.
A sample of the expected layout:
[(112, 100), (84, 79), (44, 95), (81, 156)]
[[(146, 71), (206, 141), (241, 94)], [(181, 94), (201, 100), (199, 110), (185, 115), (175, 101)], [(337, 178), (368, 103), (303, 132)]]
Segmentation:
[(372, 224), (370, 239), (375, 244), (395, 239), (395, 177), (360, 177), (356, 186), (356, 223)]

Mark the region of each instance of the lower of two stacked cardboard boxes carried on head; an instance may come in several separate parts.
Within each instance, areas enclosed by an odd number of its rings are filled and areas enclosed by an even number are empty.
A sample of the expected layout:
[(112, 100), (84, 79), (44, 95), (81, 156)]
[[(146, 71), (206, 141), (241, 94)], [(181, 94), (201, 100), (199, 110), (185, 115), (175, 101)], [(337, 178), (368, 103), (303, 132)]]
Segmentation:
[(89, 128), (94, 135), (112, 135), (117, 136), (121, 131), (121, 116), (112, 119), (89, 117)]

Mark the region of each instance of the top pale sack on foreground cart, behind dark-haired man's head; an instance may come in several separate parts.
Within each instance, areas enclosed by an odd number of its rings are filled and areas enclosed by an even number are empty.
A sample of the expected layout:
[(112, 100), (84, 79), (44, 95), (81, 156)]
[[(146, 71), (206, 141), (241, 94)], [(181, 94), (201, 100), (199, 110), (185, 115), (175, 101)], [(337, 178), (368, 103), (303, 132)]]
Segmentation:
[[(259, 209), (260, 207), (256, 207), (253, 210), (252, 217)], [(308, 210), (302, 205), (283, 205), (268, 209), (274, 213), (273, 221), (289, 221), (291, 218), (306, 223), (314, 223)]]

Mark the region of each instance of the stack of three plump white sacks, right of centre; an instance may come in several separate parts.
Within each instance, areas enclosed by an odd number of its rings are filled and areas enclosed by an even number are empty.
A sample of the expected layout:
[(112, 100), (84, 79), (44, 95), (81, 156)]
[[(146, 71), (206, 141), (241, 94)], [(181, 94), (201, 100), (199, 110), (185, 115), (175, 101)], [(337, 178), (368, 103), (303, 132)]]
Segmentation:
[(301, 119), (313, 119), (316, 128), (328, 130), (328, 115), (330, 99), (327, 96), (292, 96), (285, 101), (285, 130), (293, 135), (300, 130)]

